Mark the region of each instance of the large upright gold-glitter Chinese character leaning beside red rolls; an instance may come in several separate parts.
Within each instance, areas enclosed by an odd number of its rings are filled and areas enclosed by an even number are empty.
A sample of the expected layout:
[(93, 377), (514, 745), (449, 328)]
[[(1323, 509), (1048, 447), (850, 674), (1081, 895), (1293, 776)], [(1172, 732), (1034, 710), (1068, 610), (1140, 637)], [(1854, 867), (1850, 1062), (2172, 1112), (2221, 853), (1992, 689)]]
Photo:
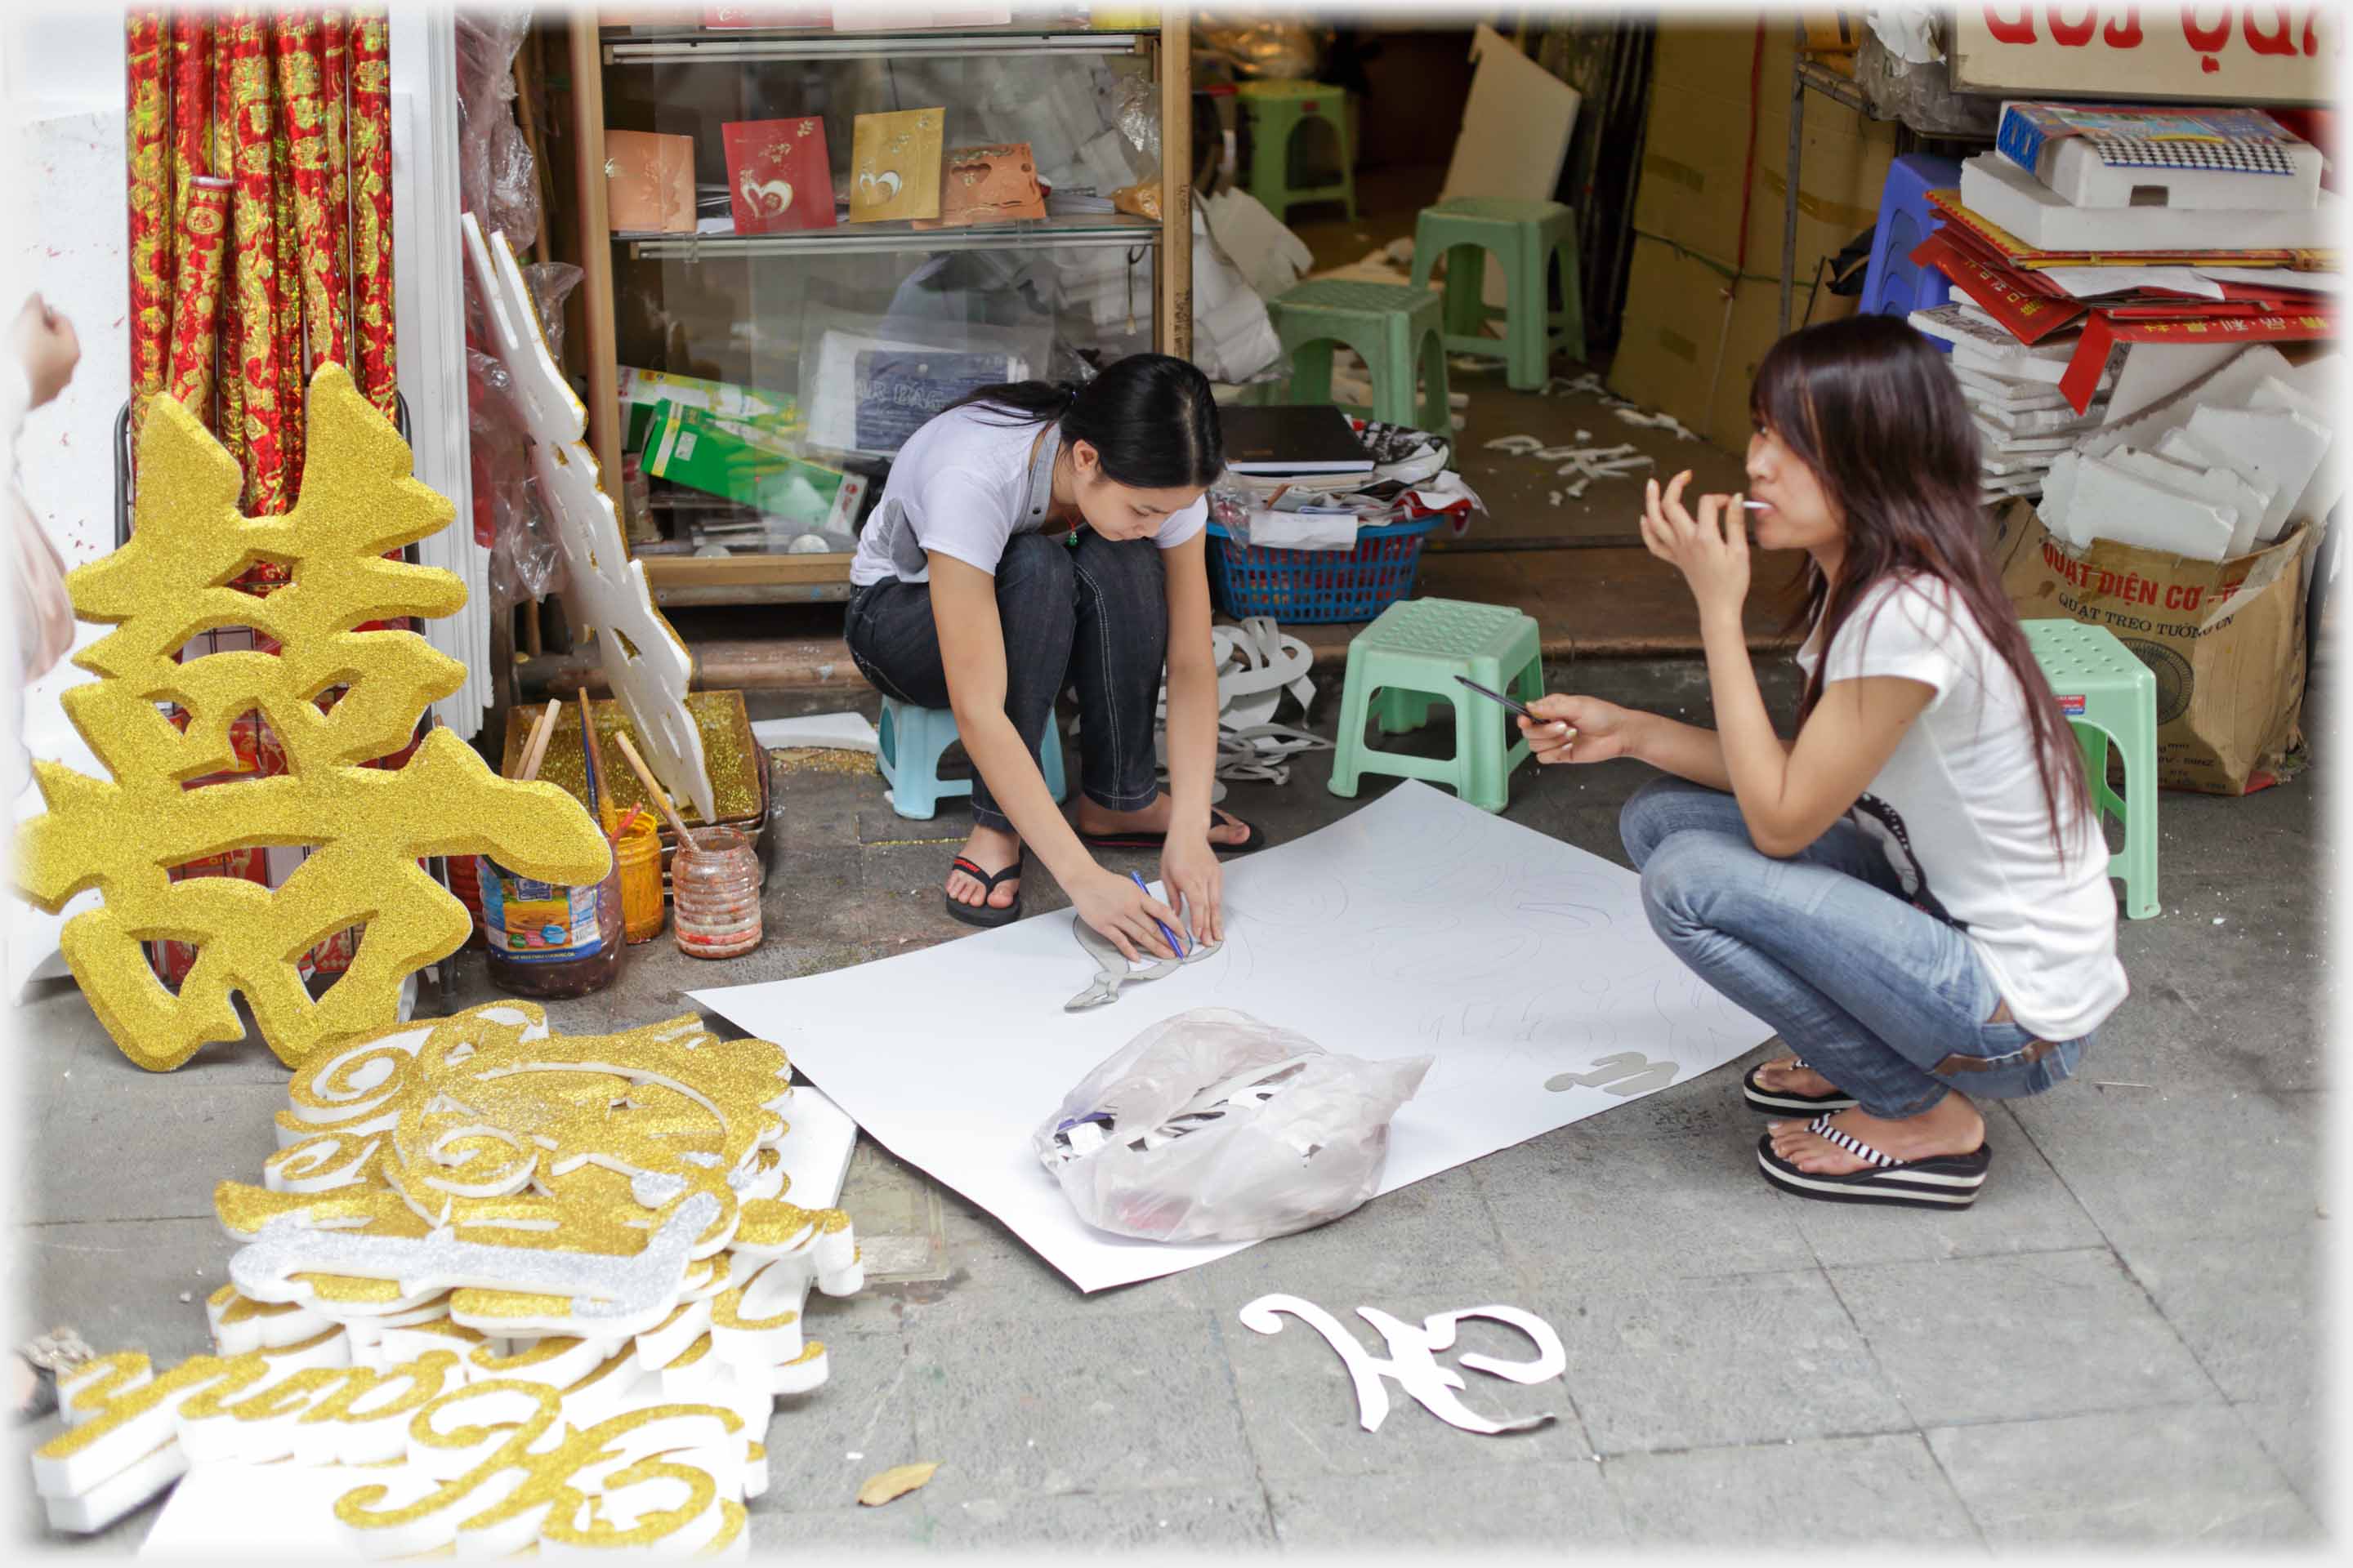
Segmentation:
[[(402, 750), (419, 712), (466, 679), (416, 632), (353, 630), (464, 604), (456, 576), (384, 559), (447, 527), (452, 505), (409, 477), (407, 442), (341, 367), (311, 381), (306, 428), (301, 501), (245, 517), (235, 461), (176, 400), (155, 397), (139, 437), (136, 531), (66, 578), (75, 611), (115, 628), (75, 658), (99, 679), (64, 696), (113, 778), (33, 764), (47, 813), (19, 827), (16, 877), (49, 912), (82, 889), (104, 893), (66, 924), (66, 964), (122, 1053), (153, 1072), (240, 1039), (233, 992), (287, 1065), (391, 1025), (402, 980), (473, 929), (421, 856), (492, 853), (562, 884), (598, 882), (609, 865), (579, 802), (496, 778), (449, 731), (428, 733), (400, 769), (365, 766)], [(289, 581), (268, 597), (228, 585), (256, 562)], [(224, 625), (254, 628), (280, 651), (179, 663), (198, 632)], [(334, 689), (341, 698), (320, 708)], [(186, 731), (160, 703), (188, 710)], [(254, 710), (285, 743), (287, 773), (181, 788), (233, 766), (231, 726)], [(280, 889), (172, 882), (176, 865), (252, 846), (313, 853)], [(358, 957), (313, 999), (296, 959), (346, 926), (365, 929)], [(148, 966), (151, 940), (198, 947), (179, 994)]]

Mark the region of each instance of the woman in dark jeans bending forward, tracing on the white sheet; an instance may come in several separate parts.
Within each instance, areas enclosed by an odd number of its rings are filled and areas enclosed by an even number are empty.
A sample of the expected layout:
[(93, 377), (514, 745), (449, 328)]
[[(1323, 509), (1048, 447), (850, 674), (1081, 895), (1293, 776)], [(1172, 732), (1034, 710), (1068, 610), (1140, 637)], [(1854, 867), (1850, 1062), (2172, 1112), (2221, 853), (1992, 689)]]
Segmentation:
[[(948, 914), (1021, 917), (1024, 846), (1127, 957), (1172, 957), (1176, 914), (1089, 849), (1160, 849), (1169, 905), (1219, 940), (1217, 856), (1261, 846), (1212, 813), (1217, 670), (1207, 503), (1224, 465), (1209, 381), (1132, 355), (1080, 388), (1024, 381), (951, 404), (908, 437), (849, 567), (847, 639), (882, 693), (955, 710), (972, 837)], [(1167, 665), (1169, 790), (1153, 710)], [(1038, 766), (1054, 698), (1078, 689), (1085, 766), (1066, 820)]]

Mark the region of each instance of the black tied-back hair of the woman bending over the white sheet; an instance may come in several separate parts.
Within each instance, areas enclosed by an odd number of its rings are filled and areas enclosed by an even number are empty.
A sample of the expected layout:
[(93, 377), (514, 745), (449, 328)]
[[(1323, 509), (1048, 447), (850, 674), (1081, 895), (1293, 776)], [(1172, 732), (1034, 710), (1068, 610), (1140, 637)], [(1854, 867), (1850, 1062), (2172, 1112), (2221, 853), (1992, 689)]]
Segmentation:
[(1172, 355), (1113, 360), (1085, 386), (984, 386), (948, 409), (967, 404), (1012, 414), (1009, 423), (1061, 425), (1064, 444), (1087, 442), (1104, 463), (1104, 477), (1132, 489), (1207, 489), (1226, 465), (1209, 378)]

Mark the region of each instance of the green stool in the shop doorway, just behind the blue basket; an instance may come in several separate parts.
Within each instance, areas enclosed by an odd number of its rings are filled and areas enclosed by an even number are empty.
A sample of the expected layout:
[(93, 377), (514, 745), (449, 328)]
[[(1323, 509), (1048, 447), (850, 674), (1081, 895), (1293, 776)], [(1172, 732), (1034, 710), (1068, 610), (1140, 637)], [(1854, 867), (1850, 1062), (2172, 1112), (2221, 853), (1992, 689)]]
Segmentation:
[[(1332, 343), (1346, 343), (1372, 371), (1372, 418), (1447, 435), (1447, 346), (1438, 294), (1402, 282), (1325, 277), (1294, 284), (1268, 308), (1292, 357), (1292, 402), (1332, 402)], [(1414, 416), (1414, 381), (1421, 416)]]

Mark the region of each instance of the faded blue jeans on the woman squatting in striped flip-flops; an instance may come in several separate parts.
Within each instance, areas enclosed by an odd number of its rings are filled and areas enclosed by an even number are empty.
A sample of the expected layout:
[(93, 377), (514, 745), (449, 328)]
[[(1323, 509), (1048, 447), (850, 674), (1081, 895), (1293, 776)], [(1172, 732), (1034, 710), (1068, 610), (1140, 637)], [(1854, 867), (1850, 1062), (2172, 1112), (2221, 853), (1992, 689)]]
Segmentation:
[(1991, 1023), (2002, 997), (1977, 947), (1906, 903), (1887, 856), (1847, 820), (1777, 860), (1729, 795), (1659, 778), (1626, 802), (1619, 835), (1659, 940), (1871, 1117), (1918, 1117), (1951, 1088), (2042, 1093), (2092, 1041)]

